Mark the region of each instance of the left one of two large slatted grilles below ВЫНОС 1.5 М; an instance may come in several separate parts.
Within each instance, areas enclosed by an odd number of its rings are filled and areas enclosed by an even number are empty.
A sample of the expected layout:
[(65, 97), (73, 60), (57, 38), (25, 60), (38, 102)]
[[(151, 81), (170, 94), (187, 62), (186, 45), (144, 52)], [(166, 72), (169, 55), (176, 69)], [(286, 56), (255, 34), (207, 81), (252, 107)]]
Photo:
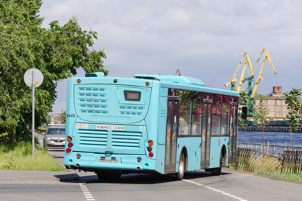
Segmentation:
[(81, 145), (96, 145), (106, 147), (108, 131), (105, 130), (78, 130)]

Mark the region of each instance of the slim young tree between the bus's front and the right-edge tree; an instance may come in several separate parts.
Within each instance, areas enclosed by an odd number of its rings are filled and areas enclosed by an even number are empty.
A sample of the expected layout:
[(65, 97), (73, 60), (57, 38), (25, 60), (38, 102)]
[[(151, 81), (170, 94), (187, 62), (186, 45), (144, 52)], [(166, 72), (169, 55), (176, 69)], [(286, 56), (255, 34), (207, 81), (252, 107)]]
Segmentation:
[(263, 146), (264, 146), (264, 126), (268, 125), (268, 120), (270, 119), (269, 112), (270, 109), (266, 107), (268, 98), (265, 98), (264, 95), (259, 95), (259, 104), (254, 106), (254, 115), (252, 116), (254, 121), (262, 127), (262, 135), (263, 135)]

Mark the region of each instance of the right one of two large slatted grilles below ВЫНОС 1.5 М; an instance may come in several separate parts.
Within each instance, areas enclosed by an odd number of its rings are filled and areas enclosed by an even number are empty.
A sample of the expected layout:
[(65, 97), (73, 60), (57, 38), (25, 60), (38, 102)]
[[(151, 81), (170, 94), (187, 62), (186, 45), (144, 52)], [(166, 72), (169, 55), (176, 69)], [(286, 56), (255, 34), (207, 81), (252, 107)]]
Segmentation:
[(142, 133), (121, 131), (112, 131), (111, 133), (112, 147), (115, 148), (129, 147), (133, 149), (139, 149), (141, 138)]

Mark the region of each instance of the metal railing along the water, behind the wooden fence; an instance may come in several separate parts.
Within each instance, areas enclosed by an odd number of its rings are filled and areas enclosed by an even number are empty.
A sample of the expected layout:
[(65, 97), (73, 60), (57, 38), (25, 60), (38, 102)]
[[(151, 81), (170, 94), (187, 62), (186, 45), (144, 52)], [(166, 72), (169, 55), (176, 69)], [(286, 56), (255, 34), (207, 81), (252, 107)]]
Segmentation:
[[(275, 145), (275, 144), (259, 144), (259, 143), (246, 143), (246, 142), (238, 142), (238, 147), (239, 148), (251, 148), (253, 150), (263, 152), (263, 153), (268, 153), (273, 156), (279, 156), (279, 152), (281, 154), (284, 154), (285, 151), (288, 151), (291, 149), (290, 146), (284, 146), (284, 145)], [(268, 150), (267, 150), (268, 148)], [(294, 151), (297, 150), (302, 150), (301, 146), (295, 146)]]

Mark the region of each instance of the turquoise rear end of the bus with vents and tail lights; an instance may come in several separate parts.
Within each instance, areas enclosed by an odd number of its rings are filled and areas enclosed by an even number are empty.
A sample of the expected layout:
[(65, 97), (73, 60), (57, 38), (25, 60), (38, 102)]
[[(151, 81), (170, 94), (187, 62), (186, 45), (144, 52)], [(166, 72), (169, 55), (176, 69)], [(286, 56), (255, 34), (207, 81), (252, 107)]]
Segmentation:
[[(152, 130), (156, 128), (146, 126), (153, 84), (159, 85), (142, 79), (104, 77), (103, 73), (70, 78), (66, 168), (94, 171), (99, 178), (137, 171), (155, 172), (153, 152), (157, 135)], [(156, 107), (156, 103), (151, 105)]]

